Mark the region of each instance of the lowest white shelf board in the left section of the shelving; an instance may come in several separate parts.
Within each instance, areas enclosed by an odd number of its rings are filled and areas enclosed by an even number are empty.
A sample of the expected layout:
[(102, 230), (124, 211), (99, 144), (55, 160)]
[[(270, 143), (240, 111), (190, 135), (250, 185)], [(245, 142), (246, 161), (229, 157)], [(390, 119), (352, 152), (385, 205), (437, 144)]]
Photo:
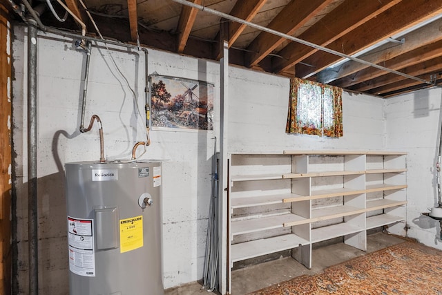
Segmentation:
[(309, 244), (309, 241), (300, 238), (295, 234), (252, 240), (250, 242), (241, 242), (239, 244), (231, 245), (231, 261), (232, 263), (235, 263), (240, 260), (292, 249), (299, 245), (307, 244)]

